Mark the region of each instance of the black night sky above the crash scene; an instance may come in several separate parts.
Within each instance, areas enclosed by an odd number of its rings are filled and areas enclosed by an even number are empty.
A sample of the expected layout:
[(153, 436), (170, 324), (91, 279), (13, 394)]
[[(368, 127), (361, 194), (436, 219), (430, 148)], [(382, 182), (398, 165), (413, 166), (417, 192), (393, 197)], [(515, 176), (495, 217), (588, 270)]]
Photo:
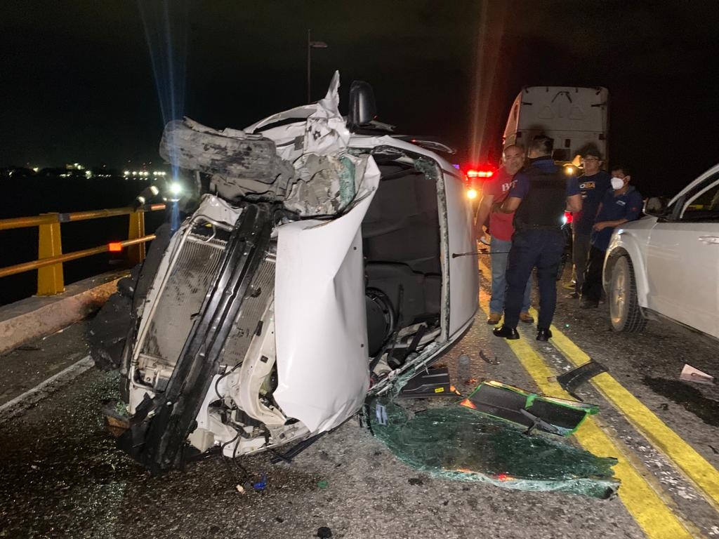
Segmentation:
[(301, 104), (308, 28), (329, 45), (313, 50), (313, 99), (335, 69), (344, 103), (367, 80), (378, 119), (443, 137), (462, 164), (496, 159), (510, 103), (537, 85), (609, 88), (610, 160), (645, 195), (719, 160), (715, 1), (6, 0), (0, 167), (159, 162), (160, 103), (219, 129)]

